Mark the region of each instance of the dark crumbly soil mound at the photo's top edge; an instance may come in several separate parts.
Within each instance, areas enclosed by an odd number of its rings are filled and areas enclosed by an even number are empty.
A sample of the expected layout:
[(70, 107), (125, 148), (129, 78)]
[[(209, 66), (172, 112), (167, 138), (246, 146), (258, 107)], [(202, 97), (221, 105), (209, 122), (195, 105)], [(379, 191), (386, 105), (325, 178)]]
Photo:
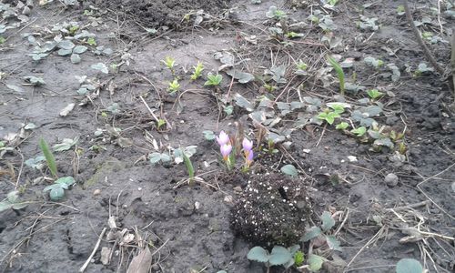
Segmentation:
[(229, 2), (230, 0), (97, 0), (96, 4), (112, 10), (125, 11), (146, 27), (167, 25), (179, 28), (194, 22), (185, 18), (186, 15), (196, 14), (200, 9), (211, 15), (217, 15), (227, 8)]

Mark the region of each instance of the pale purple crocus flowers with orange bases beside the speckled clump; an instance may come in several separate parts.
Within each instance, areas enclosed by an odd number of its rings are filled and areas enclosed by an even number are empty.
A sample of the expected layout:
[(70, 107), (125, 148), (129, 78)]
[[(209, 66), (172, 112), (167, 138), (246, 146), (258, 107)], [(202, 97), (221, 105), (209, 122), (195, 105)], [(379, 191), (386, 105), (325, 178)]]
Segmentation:
[[(231, 169), (234, 167), (236, 161), (235, 153), (232, 151), (234, 144), (224, 131), (219, 132), (219, 135), (217, 136), (217, 143), (219, 145), (221, 156), (226, 162), (227, 168)], [(248, 138), (244, 138), (242, 141), (242, 147), (243, 155), (245, 157), (244, 170), (248, 170), (253, 163), (253, 141), (248, 140)]]

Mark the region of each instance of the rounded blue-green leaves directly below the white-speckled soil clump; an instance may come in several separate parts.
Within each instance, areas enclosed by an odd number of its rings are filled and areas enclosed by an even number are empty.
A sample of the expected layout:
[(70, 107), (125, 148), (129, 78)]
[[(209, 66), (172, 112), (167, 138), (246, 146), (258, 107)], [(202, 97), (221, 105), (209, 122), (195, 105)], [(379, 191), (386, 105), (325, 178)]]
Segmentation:
[(285, 268), (290, 268), (292, 265), (294, 265), (294, 256), (298, 252), (299, 248), (300, 247), (298, 245), (292, 246), (290, 248), (275, 246), (272, 248), (271, 252), (268, 252), (267, 249), (254, 247), (249, 250), (247, 258), (249, 260), (264, 263), (268, 269), (272, 266), (283, 266)]

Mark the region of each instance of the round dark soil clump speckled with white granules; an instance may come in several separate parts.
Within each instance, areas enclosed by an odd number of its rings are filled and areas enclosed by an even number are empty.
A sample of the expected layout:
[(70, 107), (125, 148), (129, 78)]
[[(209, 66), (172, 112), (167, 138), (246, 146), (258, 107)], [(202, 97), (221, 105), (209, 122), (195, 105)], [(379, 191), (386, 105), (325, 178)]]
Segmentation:
[(301, 180), (277, 174), (251, 175), (233, 209), (232, 225), (258, 245), (293, 244), (303, 236), (311, 207)]

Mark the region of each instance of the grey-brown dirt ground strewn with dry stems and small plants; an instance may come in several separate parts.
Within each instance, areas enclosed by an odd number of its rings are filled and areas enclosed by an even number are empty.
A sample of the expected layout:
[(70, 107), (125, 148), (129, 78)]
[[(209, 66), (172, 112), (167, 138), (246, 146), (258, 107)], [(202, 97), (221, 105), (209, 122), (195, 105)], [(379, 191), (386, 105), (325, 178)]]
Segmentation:
[[(248, 260), (249, 249), (289, 240), (306, 256), (310, 250), (326, 258), (321, 272), (395, 272), (401, 258), (415, 258), (429, 272), (453, 272), (453, 97), (447, 77), (425, 71), (431, 65), (397, 10), (400, 1), (341, 0), (333, 10), (300, 0), (23, 2), (0, 1), (0, 200), (17, 191), (27, 205), (0, 210), (1, 272), (77, 272), (86, 261), (85, 272), (126, 272), (146, 247), (152, 266), (142, 272), (268, 272)], [(272, 5), (286, 19), (268, 17)], [(449, 71), (455, 29), (449, 1), (412, 0), (410, 9), (436, 61)], [(373, 17), (373, 23), (362, 19)], [(339, 96), (330, 55), (345, 61), (346, 81), (356, 92)], [(167, 56), (176, 60), (174, 71), (162, 61)], [(366, 57), (383, 65), (369, 66)], [(300, 75), (298, 60), (308, 65)], [(205, 70), (190, 80), (198, 62)], [(419, 72), (420, 64), (427, 66)], [(220, 66), (220, 85), (204, 86)], [(231, 66), (254, 79), (240, 83)], [(270, 72), (278, 66), (286, 67), (283, 74)], [(35, 77), (45, 83), (34, 84)], [(179, 90), (169, 94), (175, 78)], [(373, 88), (383, 96), (369, 100), (365, 90)], [(330, 102), (349, 106), (334, 125), (313, 122)], [(290, 110), (292, 103), (298, 107)], [(314, 106), (317, 112), (308, 110)], [(372, 106), (380, 106), (378, 116), (354, 118)], [(264, 119), (255, 119), (258, 113)], [(369, 117), (389, 138), (402, 133), (392, 139), (394, 147), (335, 126), (346, 120), (359, 127)], [(157, 126), (158, 119), (166, 124)], [(217, 141), (203, 134), (235, 134), (240, 127), (255, 143), (248, 172), (240, 163), (228, 171)], [(283, 140), (270, 149), (257, 137), (263, 128), (266, 137)], [(54, 151), (56, 175), (76, 179), (58, 201), (43, 191), (55, 180), (45, 161), (25, 163), (43, 155), (41, 138), (50, 147), (73, 142)], [(189, 146), (197, 146), (191, 183), (185, 164), (174, 158), (149, 161), (153, 153)], [(280, 169), (289, 164), (298, 177), (283, 178)], [(257, 195), (249, 194), (252, 185)], [(290, 190), (283, 193), (285, 187)], [(266, 201), (238, 207), (268, 194), (287, 207)], [(288, 208), (300, 199), (310, 208)], [(298, 241), (324, 211), (335, 219), (329, 233), (341, 251)], [(248, 226), (265, 212), (285, 224), (275, 227), (263, 217), (261, 229)], [(292, 228), (292, 236), (277, 239), (278, 231)]]

